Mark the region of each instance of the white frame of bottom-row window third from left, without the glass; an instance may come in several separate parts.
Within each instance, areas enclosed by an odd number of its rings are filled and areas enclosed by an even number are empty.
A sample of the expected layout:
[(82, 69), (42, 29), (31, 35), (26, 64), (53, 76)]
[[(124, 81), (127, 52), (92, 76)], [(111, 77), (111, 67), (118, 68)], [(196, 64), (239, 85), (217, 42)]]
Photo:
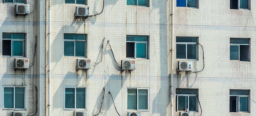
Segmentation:
[[(133, 89), (133, 90), (136, 90), (136, 94), (137, 94), (137, 96), (136, 96), (136, 99), (137, 99), (137, 103), (136, 103), (136, 105), (137, 105), (137, 109), (128, 109), (128, 107), (127, 107), (127, 104), (126, 104), (126, 109), (128, 110), (128, 111), (149, 111), (149, 88), (127, 88), (126, 89), (126, 100), (128, 100), (128, 89)], [(148, 91), (148, 109), (139, 109), (139, 90), (147, 90)]]

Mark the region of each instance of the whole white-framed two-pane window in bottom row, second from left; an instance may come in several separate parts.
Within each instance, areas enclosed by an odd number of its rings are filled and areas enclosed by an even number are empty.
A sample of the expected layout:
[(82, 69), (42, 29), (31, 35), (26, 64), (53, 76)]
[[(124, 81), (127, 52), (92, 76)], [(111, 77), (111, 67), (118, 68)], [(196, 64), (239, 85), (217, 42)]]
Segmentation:
[(86, 88), (65, 87), (65, 109), (86, 109)]

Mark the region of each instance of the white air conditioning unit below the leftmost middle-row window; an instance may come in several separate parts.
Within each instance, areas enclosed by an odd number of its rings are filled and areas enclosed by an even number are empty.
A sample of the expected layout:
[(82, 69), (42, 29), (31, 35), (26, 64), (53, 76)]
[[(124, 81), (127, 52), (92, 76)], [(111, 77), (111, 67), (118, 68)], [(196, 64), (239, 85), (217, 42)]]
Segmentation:
[(28, 69), (29, 68), (29, 59), (27, 58), (16, 58), (14, 62), (15, 69)]

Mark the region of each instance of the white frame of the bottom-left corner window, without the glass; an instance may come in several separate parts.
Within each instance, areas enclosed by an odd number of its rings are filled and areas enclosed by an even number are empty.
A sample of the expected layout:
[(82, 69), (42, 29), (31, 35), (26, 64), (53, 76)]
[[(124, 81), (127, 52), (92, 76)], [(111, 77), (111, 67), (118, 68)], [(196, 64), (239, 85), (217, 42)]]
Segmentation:
[[(13, 88), (13, 108), (5, 108), (4, 107), (4, 88)], [(24, 108), (15, 108), (15, 88), (24, 88)], [(3, 109), (14, 109), (14, 110), (26, 110), (26, 87), (25, 86), (3, 86)]]

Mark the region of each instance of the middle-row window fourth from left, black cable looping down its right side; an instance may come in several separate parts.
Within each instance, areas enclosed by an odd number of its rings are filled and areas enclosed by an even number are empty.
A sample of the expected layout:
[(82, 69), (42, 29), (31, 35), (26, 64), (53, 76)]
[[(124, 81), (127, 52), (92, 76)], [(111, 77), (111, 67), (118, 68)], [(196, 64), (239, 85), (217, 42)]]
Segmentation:
[(197, 37), (176, 37), (176, 58), (196, 59)]

